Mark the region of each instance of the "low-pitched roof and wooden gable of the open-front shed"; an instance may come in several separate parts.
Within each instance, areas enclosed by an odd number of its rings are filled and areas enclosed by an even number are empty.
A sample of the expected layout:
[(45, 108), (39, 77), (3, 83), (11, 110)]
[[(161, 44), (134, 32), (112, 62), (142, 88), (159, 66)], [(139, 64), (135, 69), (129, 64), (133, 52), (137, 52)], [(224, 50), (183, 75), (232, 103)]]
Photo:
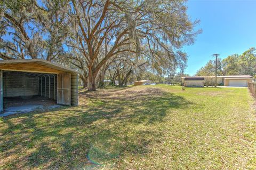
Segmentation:
[(0, 69), (9, 71), (42, 72), (50, 74), (58, 74), (60, 72), (77, 74), (77, 71), (74, 69), (63, 67), (59, 64), (42, 59), (0, 60)]

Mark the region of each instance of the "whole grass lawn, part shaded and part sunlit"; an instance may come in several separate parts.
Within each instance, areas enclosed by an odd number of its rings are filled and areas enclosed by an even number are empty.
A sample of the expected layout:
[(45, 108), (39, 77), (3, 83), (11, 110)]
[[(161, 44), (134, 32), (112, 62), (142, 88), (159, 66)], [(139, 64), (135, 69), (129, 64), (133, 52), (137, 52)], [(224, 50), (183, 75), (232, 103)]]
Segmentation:
[(79, 102), (1, 118), (0, 169), (256, 169), (247, 88), (109, 88)]

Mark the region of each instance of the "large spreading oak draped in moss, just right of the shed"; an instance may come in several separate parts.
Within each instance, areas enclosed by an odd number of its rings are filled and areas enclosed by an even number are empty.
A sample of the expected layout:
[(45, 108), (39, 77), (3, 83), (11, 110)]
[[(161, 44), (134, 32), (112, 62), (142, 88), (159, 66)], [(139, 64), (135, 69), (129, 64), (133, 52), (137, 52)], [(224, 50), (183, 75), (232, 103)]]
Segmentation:
[(123, 52), (140, 58), (141, 45), (148, 45), (152, 61), (186, 62), (180, 49), (193, 43), (198, 31), (193, 31), (197, 21), (188, 19), (185, 2), (72, 0), (69, 18), (74, 38), (67, 45), (77, 48), (86, 63), (89, 91), (96, 90), (95, 80), (108, 60)]

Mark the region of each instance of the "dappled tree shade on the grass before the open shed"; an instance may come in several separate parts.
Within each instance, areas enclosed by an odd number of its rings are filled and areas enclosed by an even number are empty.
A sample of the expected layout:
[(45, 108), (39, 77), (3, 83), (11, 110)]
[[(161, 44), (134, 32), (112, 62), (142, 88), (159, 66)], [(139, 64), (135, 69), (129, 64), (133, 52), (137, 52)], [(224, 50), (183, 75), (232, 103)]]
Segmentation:
[[(114, 93), (114, 94), (113, 94)], [(4, 118), (0, 126), (3, 167), (92, 169), (111, 167), (125, 155), (146, 155), (161, 143), (170, 110), (188, 107), (182, 96), (159, 88), (112, 94), (83, 93), (91, 102), (45, 114)]]

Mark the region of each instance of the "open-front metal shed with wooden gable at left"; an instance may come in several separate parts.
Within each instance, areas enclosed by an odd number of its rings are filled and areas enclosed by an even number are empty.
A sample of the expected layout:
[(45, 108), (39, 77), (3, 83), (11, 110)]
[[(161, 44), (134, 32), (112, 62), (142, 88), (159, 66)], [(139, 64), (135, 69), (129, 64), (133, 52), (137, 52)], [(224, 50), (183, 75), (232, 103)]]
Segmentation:
[(0, 60), (0, 112), (10, 98), (28, 96), (78, 106), (77, 71), (42, 59)]

